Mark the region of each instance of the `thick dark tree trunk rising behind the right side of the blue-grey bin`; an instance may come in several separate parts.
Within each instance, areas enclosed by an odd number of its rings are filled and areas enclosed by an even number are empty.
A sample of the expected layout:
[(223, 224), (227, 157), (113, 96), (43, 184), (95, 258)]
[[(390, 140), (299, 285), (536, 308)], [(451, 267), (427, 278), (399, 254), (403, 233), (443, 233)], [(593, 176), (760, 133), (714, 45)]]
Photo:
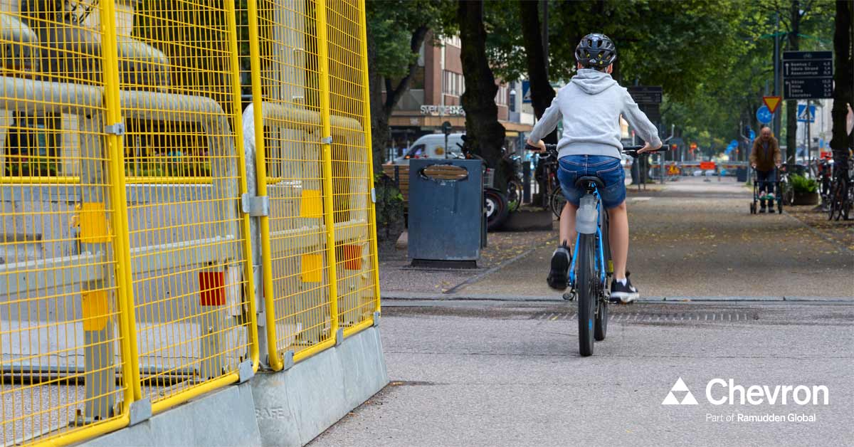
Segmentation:
[(495, 187), (504, 191), (506, 174), (501, 163), (504, 126), (498, 122), (495, 94), (498, 85), (486, 56), (486, 30), (483, 28), (483, 0), (460, 0), (457, 5), (460, 58), (465, 76), (465, 134), (473, 153), (482, 156), (495, 169)]

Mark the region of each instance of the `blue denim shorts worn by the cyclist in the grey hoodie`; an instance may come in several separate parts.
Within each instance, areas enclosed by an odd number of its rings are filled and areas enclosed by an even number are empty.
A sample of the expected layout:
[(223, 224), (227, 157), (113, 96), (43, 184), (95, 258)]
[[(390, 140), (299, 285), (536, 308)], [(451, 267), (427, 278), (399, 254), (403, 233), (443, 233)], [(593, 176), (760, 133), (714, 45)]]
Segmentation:
[(619, 158), (612, 156), (564, 156), (559, 161), (558, 179), (566, 201), (576, 207), (585, 191), (576, 188), (576, 179), (594, 175), (602, 179), (605, 189), (600, 189), (605, 209), (617, 207), (626, 200), (626, 173)]

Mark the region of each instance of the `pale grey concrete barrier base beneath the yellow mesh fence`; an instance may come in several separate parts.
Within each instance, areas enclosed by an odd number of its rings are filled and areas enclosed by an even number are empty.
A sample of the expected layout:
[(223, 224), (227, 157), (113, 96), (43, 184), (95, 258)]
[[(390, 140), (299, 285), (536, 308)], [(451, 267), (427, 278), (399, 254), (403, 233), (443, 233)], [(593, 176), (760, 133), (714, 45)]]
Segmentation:
[(283, 372), (258, 373), (80, 445), (301, 446), (388, 383), (379, 330), (371, 327)]

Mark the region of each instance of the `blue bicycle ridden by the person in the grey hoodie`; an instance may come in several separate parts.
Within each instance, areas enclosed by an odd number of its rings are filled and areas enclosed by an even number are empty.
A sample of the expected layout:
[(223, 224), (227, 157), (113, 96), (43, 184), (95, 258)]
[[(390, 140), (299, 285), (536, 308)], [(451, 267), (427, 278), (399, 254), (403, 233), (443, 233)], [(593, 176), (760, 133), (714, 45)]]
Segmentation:
[[(546, 144), (554, 148), (555, 144)], [(637, 158), (643, 146), (623, 148), (623, 154)], [(658, 150), (666, 150), (662, 146)], [(576, 179), (576, 188), (586, 191), (576, 212), (575, 250), (570, 264), (570, 291), (565, 299), (578, 302), (578, 344), (582, 356), (592, 356), (594, 340), (602, 341), (608, 331), (608, 302), (610, 281), (614, 274), (611, 247), (608, 245), (608, 213), (602, 207), (599, 189), (602, 179), (583, 176)]]

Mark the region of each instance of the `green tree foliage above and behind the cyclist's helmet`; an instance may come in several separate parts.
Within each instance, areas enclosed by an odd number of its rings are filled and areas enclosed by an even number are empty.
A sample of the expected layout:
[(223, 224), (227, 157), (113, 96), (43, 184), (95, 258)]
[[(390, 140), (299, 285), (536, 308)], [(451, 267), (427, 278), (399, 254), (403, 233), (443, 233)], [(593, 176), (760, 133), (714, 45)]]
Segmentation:
[[(781, 11), (791, 6), (791, 0), (777, 2)], [(521, 32), (514, 31), (518, 9), (512, 3), (489, 2), (486, 10), (492, 31), (488, 56), (496, 75), (506, 80), (523, 77), (526, 69)], [(829, 50), (834, 2), (801, 3), (809, 9), (799, 24), (800, 49)], [(740, 124), (757, 129), (754, 115), (766, 80), (773, 87), (774, 39), (769, 36), (775, 32), (775, 3), (598, 0), (549, 2), (549, 11), (553, 82), (575, 74), (575, 46), (584, 34), (604, 32), (617, 44), (614, 77), (623, 85), (662, 85), (665, 124), (676, 124), (682, 138), (703, 139), (698, 143), (722, 149), (739, 138)], [(781, 29), (787, 31), (787, 21), (781, 21)], [(787, 50), (786, 36), (781, 41)]]

